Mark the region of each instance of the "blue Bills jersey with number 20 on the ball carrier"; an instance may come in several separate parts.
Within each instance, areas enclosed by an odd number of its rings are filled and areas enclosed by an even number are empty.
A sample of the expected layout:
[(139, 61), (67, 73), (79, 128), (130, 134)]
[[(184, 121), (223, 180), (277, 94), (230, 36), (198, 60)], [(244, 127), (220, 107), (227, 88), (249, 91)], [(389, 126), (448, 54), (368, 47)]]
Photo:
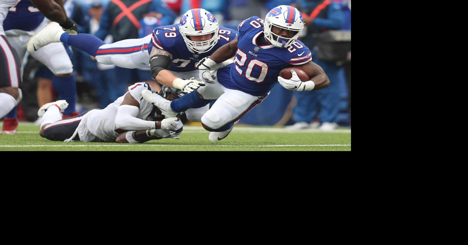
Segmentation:
[[(263, 20), (258, 16), (242, 21), (238, 29), (239, 43), (234, 63), (218, 70), (217, 75), (219, 83), (229, 89), (254, 96), (265, 95), (278, 82), (279, 72), (286, 65), (300, 65), (312, 60), (310, 50), (299, 40), (286, 48), (257, 43), (259, 36), (263, 38)], [(230, 75), (227, 74), (229, 71)]]

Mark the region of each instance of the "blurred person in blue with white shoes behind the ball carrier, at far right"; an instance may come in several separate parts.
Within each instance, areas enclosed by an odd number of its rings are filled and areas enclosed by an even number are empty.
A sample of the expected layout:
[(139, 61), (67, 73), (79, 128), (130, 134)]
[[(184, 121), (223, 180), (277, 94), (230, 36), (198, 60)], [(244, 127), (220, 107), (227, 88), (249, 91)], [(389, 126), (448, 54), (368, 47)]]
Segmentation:
[(322, 125), (321, 130), (334, 130), (338, 127), (336, 116), (339, 111), (340, 76), (341, 67), (336, 63), (317, 59), (317, 35), (327, 30), (340, 30), (343, 26), (341, 6), (331, 0), (298, 0), (295, 5), (302, 13), (306, 26), (300, 38), (307, 47), (312, 49), (312, 61), (322, 67), (330, 79), (330, 86), (318, 91), (294, 92), (297, 105), (293, 110), (293, 119), (296, 122), (288, 129), (303, 129), (318, 127), (312, 123), (316, 116)]

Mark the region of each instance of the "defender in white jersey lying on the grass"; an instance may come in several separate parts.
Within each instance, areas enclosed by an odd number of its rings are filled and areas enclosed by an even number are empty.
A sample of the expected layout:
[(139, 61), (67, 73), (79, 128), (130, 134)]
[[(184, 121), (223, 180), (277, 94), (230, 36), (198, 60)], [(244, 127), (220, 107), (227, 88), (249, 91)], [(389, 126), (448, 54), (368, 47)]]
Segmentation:
[[(67, 119), (60, 116), (60, 111), (68, 106), (65, 100), (43, 105), (37, 112), (44, 119), (40, 135), (48, 140), (66, 142), (142, 143), (161, 138), (178, 139), (182, 122), (176, 117), (161, 117), (161, 111), (142, 98), (141, 92), (146, 90), (154, 92), (149, 84), (133, 84), (128, 87), (128, 92), (105, 109)], [(166, 92), (162, 88), (159, 94), (170, 99), (173, 95)], [(151, 120), (154, 118), (161, 121)]]

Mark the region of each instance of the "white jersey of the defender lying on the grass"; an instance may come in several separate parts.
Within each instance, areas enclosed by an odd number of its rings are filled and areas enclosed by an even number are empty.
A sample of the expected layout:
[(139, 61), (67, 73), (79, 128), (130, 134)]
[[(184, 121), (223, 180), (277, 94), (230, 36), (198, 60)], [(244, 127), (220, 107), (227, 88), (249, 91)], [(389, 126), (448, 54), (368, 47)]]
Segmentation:
[[(153, 105), (149, 104), (148, 102), (146, 102), (145, 99), (143, 99), (143, 97), (141, 96), (141, 91), (143, 90), (151, 90), (153, 92), (156, 92), (154, 91), (153, 87), (151, 87), (151, 85), (149, 84), (136, 83), (128, 87), (127, 93), (130, 93), (132, 97), (140, 103), (138, 119), (146, 120), (149, 113), (153, 110)], [(83, 129), (83, 127), (85, 127), (89, 131), (89, 133), (93, 134), (94, 136), (103, 141), (113, 142), (117, 139), (120, 133), (123, 132), (123, 130), (119, 130), (115, 124), (117, 110), (120, 104), (122, 104), (122, 101), (124, 101), (124, 97), (127, 93), (119, 97), (116, 101), (114, 101), (114, 103), (108, 105), (106, 108), (102, 110), (93, 110), (87, 113), (86, 120), (83, 119), (80, 125), (78, 126), (80, 141), (88, 142), (85, 141), (88, 137), (86, 137), (86, 135), (80, 134), (80, 132), (83, 131), (80, 130), (80, 128)], [(92, 141), (96, 140), (93, 139)]]

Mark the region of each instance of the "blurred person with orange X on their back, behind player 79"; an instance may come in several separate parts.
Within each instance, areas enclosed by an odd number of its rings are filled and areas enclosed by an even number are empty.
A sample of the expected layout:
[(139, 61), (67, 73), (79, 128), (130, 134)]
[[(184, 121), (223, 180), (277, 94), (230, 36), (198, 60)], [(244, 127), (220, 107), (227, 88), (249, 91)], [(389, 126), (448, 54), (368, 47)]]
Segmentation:
[[(141, 28), (140, 20), (147, 13), (152, 13), (156, 18), (161, 19), (161, 25), (172, 24), (176, 19), (176, 14), (161, 0), (110, 0), (104, 8), (99, 30), (94, 35), (104, 40), (110, 34), (113, 42), (137, 39)], [(124, 93), (127, 84), (147, 81), (148, 79), (146, 77), (139, 78), (136, 69), (116, 67), (115, 72), (118, 79), (115, 81), (114, 87), (117, 87), (118, 94)], [(150, 77), (149, 70), (147, 73)]]

